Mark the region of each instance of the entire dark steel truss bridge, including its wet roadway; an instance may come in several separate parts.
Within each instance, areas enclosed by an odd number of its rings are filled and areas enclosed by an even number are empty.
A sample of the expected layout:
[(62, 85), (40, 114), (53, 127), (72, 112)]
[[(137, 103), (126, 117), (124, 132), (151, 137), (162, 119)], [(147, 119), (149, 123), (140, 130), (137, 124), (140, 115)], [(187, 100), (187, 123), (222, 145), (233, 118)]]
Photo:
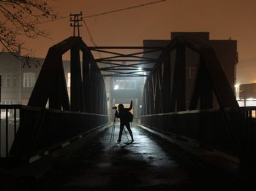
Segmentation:
[[(24, 190), (254, 186), (256, 108), (238, 106), (211, 47), (183, 36), (133, 54), (94, 59), (91, 53), (113, 53), (105, 50), (111, 48), (143, 47), (87, 47), (80, 37), (65, 39), (50, 47), (29, 104), (1, 105), (5, 187), (15, 189), (10, 182)], [(192, 82), (186, 81), (187, 49), (198, 58)], [(62, 64), (67, 51), (70, 95)], [(152, 51), (159, 52), (157, 60), (139, 56)], [(120, 63), (125, 60), (132, 64)], [(146, 77), (132, 144), (125, 134), (121, 144), (110, 141), (118, 133), (108, 116), (104, 77), (110, 76)]]

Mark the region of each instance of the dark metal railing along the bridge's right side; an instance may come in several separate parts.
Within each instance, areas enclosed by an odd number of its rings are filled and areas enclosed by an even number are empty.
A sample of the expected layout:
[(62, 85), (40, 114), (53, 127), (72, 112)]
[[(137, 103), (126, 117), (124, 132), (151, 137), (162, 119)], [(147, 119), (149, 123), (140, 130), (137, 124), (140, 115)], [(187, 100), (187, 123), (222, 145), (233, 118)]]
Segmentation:
[[(141, 116), (141, 125), (193, 139), (209, 149), (240, 157), (256, 150), (256, 107), (225, 109), (229, 124), (217, 109)], [(242, 152), (242, 154), (241, 154)]]

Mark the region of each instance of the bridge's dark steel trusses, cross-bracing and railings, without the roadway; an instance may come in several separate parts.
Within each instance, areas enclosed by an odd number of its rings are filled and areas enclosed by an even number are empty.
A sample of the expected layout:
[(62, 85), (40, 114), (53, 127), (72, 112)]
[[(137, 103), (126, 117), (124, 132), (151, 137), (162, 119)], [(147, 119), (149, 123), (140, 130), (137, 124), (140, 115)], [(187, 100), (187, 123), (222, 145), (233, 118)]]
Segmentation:
[[(186, 80), (187, 49), (198, 58), (192, 82)], [(68, 50), (70, 99), (62, 64)], [(108, 56), (94, 59), (92, 52)], [(148, 57), (151, 52), (159, 58)], [(1, 159), (26, 162), (107, 125), (104, 77), (146, 77), (141, 125), (236, 156), (244, 169), (255, 168), (256, 107), (238, 106), (214, 50), (187, 37), (177, 37), (166, 47), (87, 47), (80, 37), (70, 37), (50, 47), (28, 106), (1, 105), (6, 111)]]

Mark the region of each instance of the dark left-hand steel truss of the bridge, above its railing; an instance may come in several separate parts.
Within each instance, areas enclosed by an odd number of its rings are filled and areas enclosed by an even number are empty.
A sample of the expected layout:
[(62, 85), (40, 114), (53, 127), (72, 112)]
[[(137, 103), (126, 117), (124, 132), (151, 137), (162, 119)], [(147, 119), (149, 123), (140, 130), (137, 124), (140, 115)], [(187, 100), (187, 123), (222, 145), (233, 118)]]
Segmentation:
[[(62, 55), (70, 50), (70, 103)], [(81, 68), (80, 51), (83, 53)], [(83, 71), (83, 72), (82, 72)], [(69, 37), (50, 47), (28, 106), (107, 114), (105, 82), (89, 47), (80, 37)]]

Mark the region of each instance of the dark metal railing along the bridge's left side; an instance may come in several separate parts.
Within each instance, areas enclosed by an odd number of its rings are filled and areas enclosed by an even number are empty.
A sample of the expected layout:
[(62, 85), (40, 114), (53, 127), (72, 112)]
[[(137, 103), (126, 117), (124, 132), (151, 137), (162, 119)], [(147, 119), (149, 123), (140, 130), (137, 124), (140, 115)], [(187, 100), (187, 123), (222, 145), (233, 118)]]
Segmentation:
[(41, 109), (23, 105), (0, 105), (1, 158), (28, 160), (86, 131), (108, 124), (108, 116), (85, 112)]

